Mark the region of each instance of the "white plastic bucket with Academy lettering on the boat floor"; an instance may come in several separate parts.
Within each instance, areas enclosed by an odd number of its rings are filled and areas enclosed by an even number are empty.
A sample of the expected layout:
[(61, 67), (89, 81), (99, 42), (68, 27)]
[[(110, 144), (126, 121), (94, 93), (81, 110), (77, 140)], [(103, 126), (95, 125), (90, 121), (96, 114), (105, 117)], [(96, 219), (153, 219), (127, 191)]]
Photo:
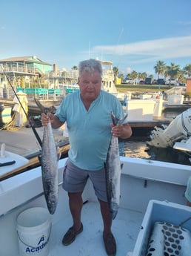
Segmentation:
[(49, 254), (51, 219), (47, 209), (34, 207), (22, 211), (17, 217), (16, 229), (20, 256)]

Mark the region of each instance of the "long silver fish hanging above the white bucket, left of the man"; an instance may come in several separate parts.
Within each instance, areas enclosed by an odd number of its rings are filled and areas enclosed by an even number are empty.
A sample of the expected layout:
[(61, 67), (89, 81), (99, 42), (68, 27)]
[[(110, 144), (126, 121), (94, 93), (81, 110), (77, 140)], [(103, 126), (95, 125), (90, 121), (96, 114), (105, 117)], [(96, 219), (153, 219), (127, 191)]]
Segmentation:
[[(44, 113), (47, 112), (40, 102), (36, 101), (36, 104)], [(47, 208), (50, 214), (54, 214), (58, 203), (58, 154), (50, 122), (44, 126), (41, 145), (41, 176)]]

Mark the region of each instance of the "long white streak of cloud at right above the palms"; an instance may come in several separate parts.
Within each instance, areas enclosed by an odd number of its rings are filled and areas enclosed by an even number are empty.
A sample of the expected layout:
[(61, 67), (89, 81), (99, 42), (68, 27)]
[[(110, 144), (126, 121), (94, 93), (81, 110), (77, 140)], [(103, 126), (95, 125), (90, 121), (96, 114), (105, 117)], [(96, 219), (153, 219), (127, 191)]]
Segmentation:
[(191, 36), (147, 40), (118, 46), (99, 45), (93, 47), (92, 52), (125, 56), (129, 63), (184, 58), (191, 56)]

